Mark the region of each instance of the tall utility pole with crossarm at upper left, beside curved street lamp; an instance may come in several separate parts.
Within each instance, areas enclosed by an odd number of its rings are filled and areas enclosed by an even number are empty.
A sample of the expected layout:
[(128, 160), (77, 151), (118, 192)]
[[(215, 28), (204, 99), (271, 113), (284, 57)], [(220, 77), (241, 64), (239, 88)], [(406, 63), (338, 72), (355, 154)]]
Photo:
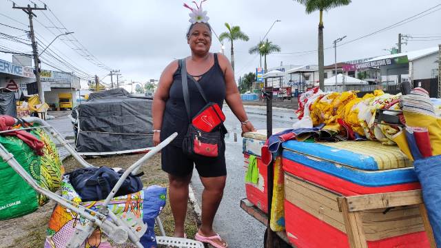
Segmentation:
[(30, 39), (32, 41), (32, 54), (34, 56), (34, 74), (35, 74), (35, 79), (37, 79), (37, 87), (39, 88), (40, 102), (45, 103), (43, 85), (41, 85), (41, 79), (40, 79), (39, 52), (38, 52), (37, 42), (35, 42), (34, 25), (32, 24), (32, 17), (37, 17), (37, 15), (34, 14), (32, 10), (47, 10), (47, 8), (46, 5), (44, 5), (44, 8), (37, 8), (37, 4), (34, 4), (34, 7), (31, 8), (29, 4), (28, 7), (17, 7), (15, 6), (15, 3), (12, 4), (13, 4), (12, 5), (13, 9), (23, 10), (29, 16)]

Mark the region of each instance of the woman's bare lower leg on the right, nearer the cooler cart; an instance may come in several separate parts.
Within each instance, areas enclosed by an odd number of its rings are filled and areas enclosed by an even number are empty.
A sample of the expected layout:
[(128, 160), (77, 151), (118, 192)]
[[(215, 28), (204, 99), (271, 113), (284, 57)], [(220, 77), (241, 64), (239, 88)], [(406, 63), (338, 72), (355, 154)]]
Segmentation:
[(204, 190), (202, 193), (202, 224), (199, 233), (203, 236), (216, 235), (216, 232), (213, 231), (213, 220), (220, 205), (220, 200), (222, 200), (226, 179), (227, 176), (201, 176)]

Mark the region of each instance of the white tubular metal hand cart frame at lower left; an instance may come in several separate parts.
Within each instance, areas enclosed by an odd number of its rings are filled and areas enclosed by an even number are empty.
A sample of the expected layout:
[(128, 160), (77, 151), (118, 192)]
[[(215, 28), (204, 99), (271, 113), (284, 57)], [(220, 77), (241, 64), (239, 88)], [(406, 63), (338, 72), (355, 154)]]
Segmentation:
[[(61, 145), (63, 145), (63, 147), (65, 147), (65, 149), (72, 155), (72, 157), (83, 167), (93, 167), (93, 165), (90, 165), (81, 156), (79, 156), (79, 154), (76, 153), (74, 148), (72, 148), (67, 143), (67, 141), (65, 141), (63, 136), (61, 136), (59, 132), (54, 129), (54, 127), (50, 126), (48, 123), (41, 120), (40, 118), (30, 117), (17, 119), (10, 116), (5, 117), (10, 121), (10, 123), (8, 123), (9, 126), (15, 125), (17, 123), (23, 123), (23, 121), (25, 123), (37, 124), (32, 127), (20, 128), (19, 130), (42, 129), (45, 131), (46, 134), (52, 137), (52, 139), (61, 143)], [(5, 130), (1, 131), (0, 133), (7, 132), (17, 132), (17, 129)], [(113, 240), (113, 242), (115, 242), (116, 244), (123, 244), (127, 240), (130, 240), (134, 245), (136, 245), (136, 247), (141, 248), (143, 247), (143, 245), (141, 244), (140, 239), (147, 228), (145, 223), (143, 223), (142, 218), (136, 218), (136, 216), (134, 215), (125, 215), (124, 217), (116, 216), (116, 214), (114, 214), (112, 209), (109, 209), (108, 206), (112, 198), (114, 198), (116, 192), (118, 192), (118, 190), (120, 189), (125, 178), (127, 178), (127, 176), (129, 176), (130, 174), (136, 174), (136, 172), (139, 170), (141, 165), (145, 163), (145, 161), (152, 158), (154, 154), (156, 154), (163, 147), (168, 145), (176, 137), (176, 135), (176, 133), (172, 134), (156, 147), (152, 147), (152, 149), (150, 149), (150, 152), (145, 154), (142, 158), (139, 159), (139, 161), (136, 161), (136, 163), (125, 170), (116, 185), (114, 185), (110, 194), (108, 194), (107, 197), (105, 197), (105, 200), (103, 200), (101, 207), (94, 210), (88, 207), (84, 207), (83, 205), (72, 200), (63, 198), (62, 196), (59, 196), (58, 194), (55, 194), (50, 190), (41, 187), (41, 185), (39, 185), (39, 183), (37, 183), (34, 178), (32, 178), (32, 176), (30, 176), (30, 174), (28, 174), (28, 172), (23, 169), (17, 159), (14, 158), (14, 155), (12, 155), (12, 153), (8, 151), (8, 149), (6, 149), (6, 147), (3, 146), (3, 144), (1, 143), (0, 156), (1, 158), (3, 158), (3, 161), (8, 163), (8, 165), (10, 165), (10, 167), (12, 167), (12, 169), (14, 169), (14, 171), (17, 172), (17, 174), (19, 174), (19, 176), (21, 176), (21, 178), (23, 178), (25, 182), (28, 183), (28, 185), (30, 185), (30, 187), (32, 187), (36, 192), (39, 192), (39, 194), (54, 200), (58, 205), (76, 213), (79, 218), (84, 220), (84, 225), (76, 225), (76, 228), (74, 229), (72, 236), (70, 236), (70, 238), (68, 239), (68, 242), (66, 242), (65, 247), (80, 247), (85, 242), (85, 240), (87, 240), (92, 235), (92, 233), (97, 228), (99, 228), (101, 232), (107, 236), (107, 238), (110, 238), (110, 240)], [(156, 217), (156, 224), (161, 230), (161, 236), (156, 236), (156, 242), (158, 245), (168, 245), (171, 247), (203, 247), (203, 244), (201, 242), (195, 240), (165, 236), (165, 231), (162, 227), (161, 220), (158, 217)]]

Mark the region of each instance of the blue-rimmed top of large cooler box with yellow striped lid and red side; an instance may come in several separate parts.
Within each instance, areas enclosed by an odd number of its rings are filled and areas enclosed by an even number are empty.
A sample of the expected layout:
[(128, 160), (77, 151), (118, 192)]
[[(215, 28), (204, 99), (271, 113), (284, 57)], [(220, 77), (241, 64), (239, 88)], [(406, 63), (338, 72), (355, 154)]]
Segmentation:
[(345, 196), (420, 189), (411, 161), (373, 141), (283, 143), (283, 169)]

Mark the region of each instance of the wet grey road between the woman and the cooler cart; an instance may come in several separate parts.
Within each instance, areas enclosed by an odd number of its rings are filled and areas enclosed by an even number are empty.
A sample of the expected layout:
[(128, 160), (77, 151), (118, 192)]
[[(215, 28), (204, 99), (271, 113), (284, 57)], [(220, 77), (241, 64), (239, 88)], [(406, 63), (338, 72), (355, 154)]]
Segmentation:
[[(265, 107), (246, 106), (245, 110), (256, 129), (266, 129)], [(240, 200), (246, 197), (240, 123), (228, 107), (224, 107), (224, 112), (227, 116), (225, 126), (229, 131), (229, 135), (225, 138), (228, 176), (225, 194), (214, 220), (214, 229), (227, 240), (229, 247), (263, 247), (265, 227), (240, 208)], [(274, 128), (289, 128), (294, 123), (294, 110), (274, 110), (273, 118)], [(237, 142), (234, 142), (234, 132), (238, 134)], [(196, 169), (192, 186), (200, 205), (203, 185)]]

